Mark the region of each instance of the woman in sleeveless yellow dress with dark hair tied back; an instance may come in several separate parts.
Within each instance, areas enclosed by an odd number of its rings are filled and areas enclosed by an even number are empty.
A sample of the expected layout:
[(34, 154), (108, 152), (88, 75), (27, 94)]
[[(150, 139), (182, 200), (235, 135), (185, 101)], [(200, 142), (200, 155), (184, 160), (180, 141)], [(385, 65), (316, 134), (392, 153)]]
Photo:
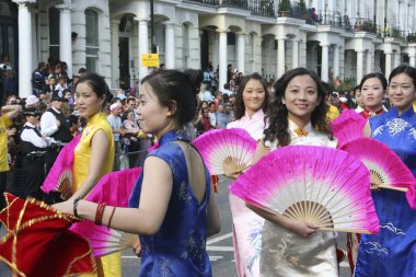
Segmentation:
[[(71, 201), (78, 197), (84, 198), (100, 178), (113, 170), (113, 131), (103, 113), (103, 107), (111, 97), (107, 84), (99, 74), (88, 73), (80, 78), (76, 88), (76, 102), (80, 116), (86, 118), (86, 126), (74, 150), (72, 195), (63, 195), (70, 196)], [(119, 252), (97, 259), (97, 265), (100, 276), (122, 276)]]

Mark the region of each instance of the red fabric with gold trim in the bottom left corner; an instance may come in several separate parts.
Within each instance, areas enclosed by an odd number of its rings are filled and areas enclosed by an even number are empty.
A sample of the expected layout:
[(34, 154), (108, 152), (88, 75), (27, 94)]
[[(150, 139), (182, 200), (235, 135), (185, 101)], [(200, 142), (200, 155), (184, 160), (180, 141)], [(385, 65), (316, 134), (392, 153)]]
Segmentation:
[(0, 241), (0, 262), (13, 274), (60, 277), (96, 272), (88, 241), (68, 230), (77, 218), (34, 198), (4, 196), (8, 207), (0, 220), (7, 234)]

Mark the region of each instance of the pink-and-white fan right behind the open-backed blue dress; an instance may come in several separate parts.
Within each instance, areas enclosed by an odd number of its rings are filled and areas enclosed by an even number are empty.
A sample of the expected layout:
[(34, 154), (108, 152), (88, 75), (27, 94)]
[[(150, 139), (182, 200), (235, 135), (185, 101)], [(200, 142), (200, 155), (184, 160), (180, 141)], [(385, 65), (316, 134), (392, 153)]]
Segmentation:
[(256, 141), (244, 129), (218, 129), (194, 140), (211, 175), (238, 173), (252, 164)]

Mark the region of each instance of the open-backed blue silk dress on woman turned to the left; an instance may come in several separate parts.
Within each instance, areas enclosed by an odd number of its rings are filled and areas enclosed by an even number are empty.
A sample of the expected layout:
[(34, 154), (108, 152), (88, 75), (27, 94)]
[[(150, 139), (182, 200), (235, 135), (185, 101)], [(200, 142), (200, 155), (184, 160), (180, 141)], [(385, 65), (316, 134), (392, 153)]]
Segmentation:
[[(205, 166), (206, 194), (199, 205), (195, 197), (182, 148), (174, 141), (189, 141), (186, 135), (172, 130), (159, 140), (159, 148), (149, 155), (165, 161), (172, 170), (173, 186), (166, 215), (154, 235), (140, 235), (142, 247), (139, 277), (212, 276), (206, 251), (207, 205), (210, 174)], [(148, 155), (148, 157), (149, 157)], [(142, 172), (129, 198), (129, 207), (139, 207)]]

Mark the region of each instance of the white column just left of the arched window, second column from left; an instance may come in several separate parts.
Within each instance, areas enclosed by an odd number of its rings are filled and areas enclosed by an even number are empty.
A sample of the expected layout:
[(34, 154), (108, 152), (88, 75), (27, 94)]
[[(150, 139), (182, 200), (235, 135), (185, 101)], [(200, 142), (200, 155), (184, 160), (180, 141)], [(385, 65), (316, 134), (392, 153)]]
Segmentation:
[(71, 7), (69, 4), (57, 4), (59, 9), (59, 59), (68, 65), (68, 76), (72, 77), (72, 23)]

